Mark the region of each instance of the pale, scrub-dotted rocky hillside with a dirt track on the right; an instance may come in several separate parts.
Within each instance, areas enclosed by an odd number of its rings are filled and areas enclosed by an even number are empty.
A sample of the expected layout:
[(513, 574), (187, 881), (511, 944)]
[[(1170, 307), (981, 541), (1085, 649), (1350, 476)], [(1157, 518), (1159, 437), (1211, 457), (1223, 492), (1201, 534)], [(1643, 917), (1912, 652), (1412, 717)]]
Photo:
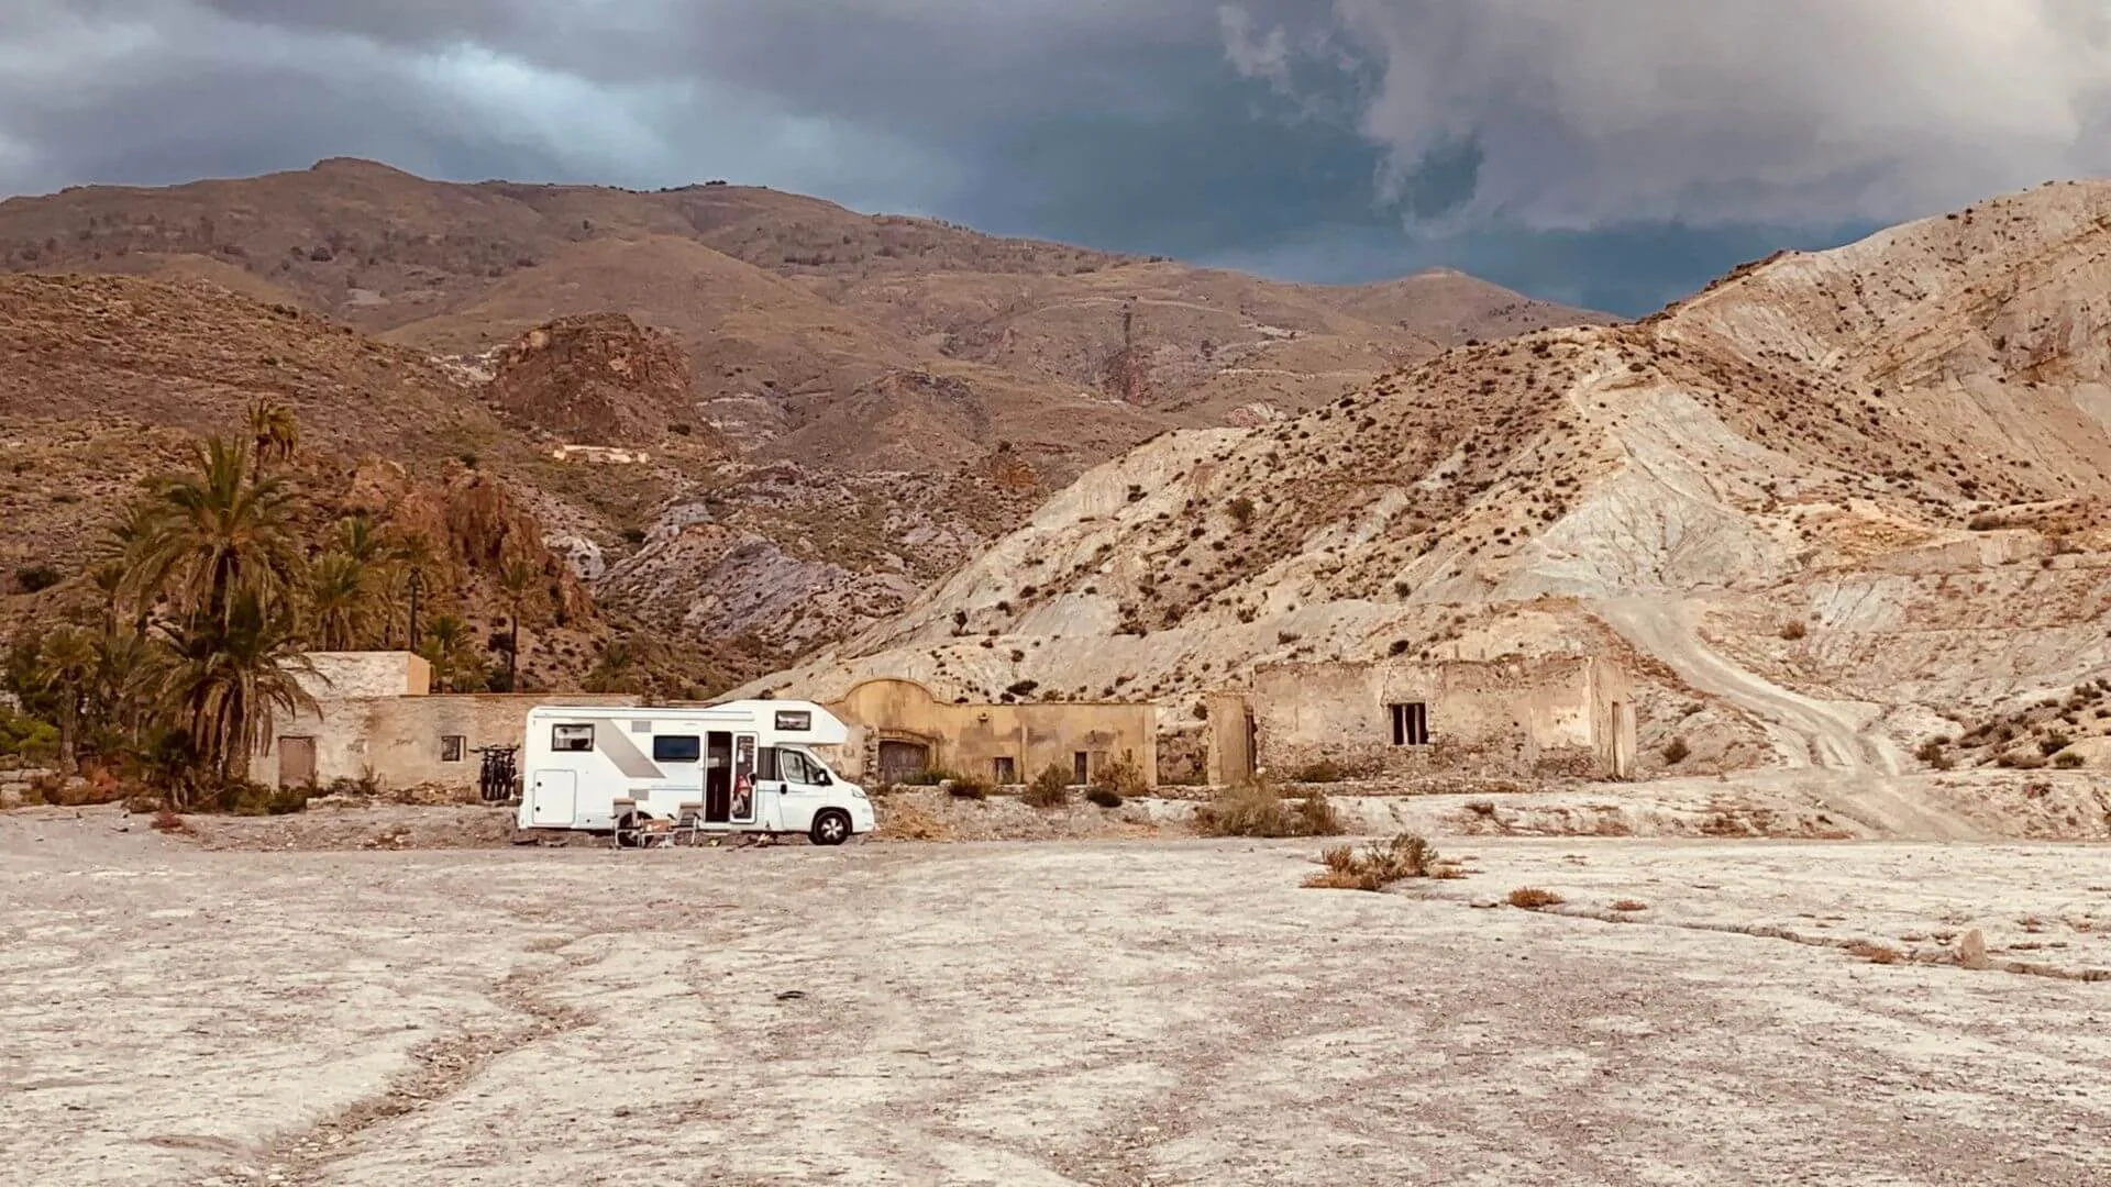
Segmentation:
[(887, 672), (1195, 724), (1267, 661), (1606, 651), (1687, 769), (2041, 762), (2052, 733), (2079, 760), (2111, 731), (2107, 323), (2111, 184), (1780, 256), (1642, 325), (1159, 437), (762, 686)]

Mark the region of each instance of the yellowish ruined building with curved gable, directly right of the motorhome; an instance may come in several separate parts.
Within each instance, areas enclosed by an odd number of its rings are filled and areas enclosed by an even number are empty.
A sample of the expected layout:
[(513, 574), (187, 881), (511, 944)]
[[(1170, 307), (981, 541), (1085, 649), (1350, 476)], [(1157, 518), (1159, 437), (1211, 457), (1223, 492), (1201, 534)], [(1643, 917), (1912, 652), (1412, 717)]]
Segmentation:
[(918, 771), (958, 771), (1024, 784), (1060, 767), (1072, 784), (1098, 781), (1115, 762), (1157, 786), (1157, 705), (1037, 701), (963, 705), (914, 680), (866, 680), (830, 712), (851, 727), (844, 775), (897, 784)]

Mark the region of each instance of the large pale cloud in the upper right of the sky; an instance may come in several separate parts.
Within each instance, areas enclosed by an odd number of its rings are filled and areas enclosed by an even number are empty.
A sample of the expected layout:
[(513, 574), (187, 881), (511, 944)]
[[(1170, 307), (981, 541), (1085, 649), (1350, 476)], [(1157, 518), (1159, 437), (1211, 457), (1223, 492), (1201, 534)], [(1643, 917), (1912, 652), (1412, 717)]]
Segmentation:
[[(2111, 171), (2100, 0), (1334, 0), (1319, 27), (1381, 78), (1395, 182), (1478, 150), (1463, 220), (1837, 224)], [(1277, 84), (1315, 44), (1224, 30)]]

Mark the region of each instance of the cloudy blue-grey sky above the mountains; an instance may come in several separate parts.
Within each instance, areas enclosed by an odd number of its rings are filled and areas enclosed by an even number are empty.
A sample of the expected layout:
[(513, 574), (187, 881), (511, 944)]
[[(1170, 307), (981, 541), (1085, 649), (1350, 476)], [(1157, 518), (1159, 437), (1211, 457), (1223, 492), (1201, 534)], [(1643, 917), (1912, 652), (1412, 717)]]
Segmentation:
[(0, 0), (0, 194), (325, 156), (1638, 315), (2111, 173), (2111, 4)]

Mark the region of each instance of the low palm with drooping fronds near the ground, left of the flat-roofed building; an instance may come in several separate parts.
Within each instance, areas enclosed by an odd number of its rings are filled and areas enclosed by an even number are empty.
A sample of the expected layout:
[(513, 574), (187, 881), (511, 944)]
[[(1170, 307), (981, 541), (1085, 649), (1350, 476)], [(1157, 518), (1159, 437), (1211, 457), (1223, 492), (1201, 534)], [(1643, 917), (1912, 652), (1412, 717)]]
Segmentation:
[(241, 589), (224, 619), (169, 627), (175, 661), (163, 674), (163, 705), (188, 722), (201, 765), (220, 779), (247, 775), (272, 737), (277, 712), (315, 710), (298, 676), (315, 674), (300, 648), (291, 606)]

